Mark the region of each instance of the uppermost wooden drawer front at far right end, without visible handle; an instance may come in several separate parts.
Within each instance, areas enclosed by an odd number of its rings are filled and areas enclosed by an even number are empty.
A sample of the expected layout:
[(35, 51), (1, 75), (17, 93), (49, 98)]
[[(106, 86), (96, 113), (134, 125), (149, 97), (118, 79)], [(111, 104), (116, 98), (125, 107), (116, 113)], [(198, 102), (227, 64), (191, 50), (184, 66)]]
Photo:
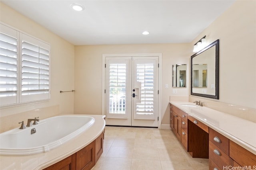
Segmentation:
[(256, 155), (231, 140), (229, 141), (229, 156), (241, 166), (256, 165)]

